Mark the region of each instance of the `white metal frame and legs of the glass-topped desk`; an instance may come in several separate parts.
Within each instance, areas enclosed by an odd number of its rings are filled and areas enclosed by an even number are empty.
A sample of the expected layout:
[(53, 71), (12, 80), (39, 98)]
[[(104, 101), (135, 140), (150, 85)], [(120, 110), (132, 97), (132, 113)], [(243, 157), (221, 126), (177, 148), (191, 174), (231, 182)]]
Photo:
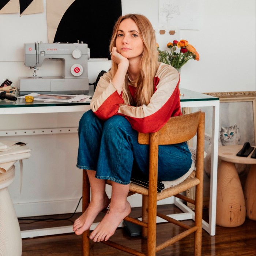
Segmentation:
[[(180, 89), (181, 93), (186, 91)], [(218, 129), (219, 129), (219, 100), (195, 100), (181, 101), (181, 108), (194, 107), (212, 107), (212, 152), (211, 152), (211, 182), (210, 182), (210, 202), (209, 202), (209, 223), (203, 220), (203, 229), (211, 236), (215, 236), (216, 223), (216, 195), (217, 195), (217, 165), (218, 165)], [(37, 106), (37, 107), (7, 107), (0, 108), (0, 114), (35, 114), (35, 113), (61, 113), (61, 112), (86, 112), (90, 109), (89, 105), (69, 105), (69, 106)], [(3, 134), (4, 131), (2, 131)], [(0, 136), (1, 131), (0, 131)], [(175, 199), (174, 204), (184, 213), (169, 215), (177, 220), (195, 219), (194, 212), (187, 207), (181, 200)], [(157, 222), (163, 220), (157, 218)], [(94, 223), (91, 229), (94, 229), (98, 223)], [(122, 225), (120, 225), (122, 226)], [(47, 236), (54, 234), (73, 233), (72, 226), (53, 227), (46, 229), (35, 229), (21, 231), (22, 238)]]

